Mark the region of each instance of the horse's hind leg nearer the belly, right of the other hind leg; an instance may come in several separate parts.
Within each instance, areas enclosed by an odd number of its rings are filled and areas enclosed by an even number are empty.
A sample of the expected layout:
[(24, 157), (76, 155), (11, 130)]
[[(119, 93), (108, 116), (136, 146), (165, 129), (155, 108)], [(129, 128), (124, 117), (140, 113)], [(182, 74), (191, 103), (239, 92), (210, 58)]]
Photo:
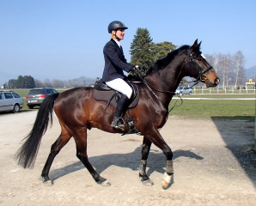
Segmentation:
[(80, 130), (76, 130), (76, 136), (74, 136), (76, 141), (76, 156), (82, 161), (82, 164), (88, 169), (88, 172), (92, 175), (95, 182), (99, 185), (109, 186), (111, 185), (107, 179), (101, 177), (99, 173), (97, 173), (88, 161), (87, 155), (87, 128), (82, 128)]

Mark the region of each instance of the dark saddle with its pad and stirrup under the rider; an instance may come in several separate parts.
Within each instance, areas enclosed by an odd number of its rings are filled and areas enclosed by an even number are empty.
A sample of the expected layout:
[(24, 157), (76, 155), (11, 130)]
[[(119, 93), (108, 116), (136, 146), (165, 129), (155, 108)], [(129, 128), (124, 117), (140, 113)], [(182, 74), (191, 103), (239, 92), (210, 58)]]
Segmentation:
[[(128, 118), (125, 119), (125, 123), (129, 127), (129, 131), (125, 134), (133, 134), (133, 133), (138, 133), (139, 131), (133, 124), (133, 120), (130, 116), (129, 110), (135, 108), (137, 106), (138, 100), (139, 100), (139, 93), (138, 93), (138, 88), (136, 84), (133, 84), (131, 82), (127, 82), (131, 88), (132, 88), (132, 95), (131, 95), (131, 100), (130, 104), (126, 110)], [(95, 82), (93, 85), (94, 88), (94, 100), (99, 100), (99, 101), (106, 101), (107, 104), (105, 106), (105, 110), (107, 109), (107, 106), (111, 105), (114, 108), (116, 108), (119, 98), (121, 94), (118, 91), (113, 90), (112, 88), (109, 88), (106, 83), (99, 81)], [(123, 135), (125, 135), (123, 134)]]

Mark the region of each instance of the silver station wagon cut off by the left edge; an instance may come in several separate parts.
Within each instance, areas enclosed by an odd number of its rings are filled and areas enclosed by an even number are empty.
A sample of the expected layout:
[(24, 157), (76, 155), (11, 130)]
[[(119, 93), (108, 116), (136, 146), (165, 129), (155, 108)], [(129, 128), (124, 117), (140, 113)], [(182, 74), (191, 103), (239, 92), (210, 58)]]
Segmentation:
[(0, 112), (20, 112), (23, 100), (13, 91), (0, 91)]

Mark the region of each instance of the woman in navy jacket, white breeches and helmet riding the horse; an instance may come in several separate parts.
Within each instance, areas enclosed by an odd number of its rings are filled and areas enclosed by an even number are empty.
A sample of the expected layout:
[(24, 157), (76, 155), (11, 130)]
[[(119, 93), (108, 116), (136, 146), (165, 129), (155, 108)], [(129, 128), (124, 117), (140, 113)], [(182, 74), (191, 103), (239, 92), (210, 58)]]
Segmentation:
[(111, 33), (111, 39), (103, 49), (105, 67), (102, 82), (106, 82), (107, 86), (121, 93), (111, 124), (111, 126), (118, 130), (125, 130), (122, 116), (132, 94), (131, 87), (125, 82), (126, 76), (123, 70), (130, 72), (138, 68), (137, 65), (127, 63), (122, 46), (120, 45), (120, 40), (124, 39), (125, 29), (127, 28), (121, 21), (112, 21), (108, 25), (108, 33)]

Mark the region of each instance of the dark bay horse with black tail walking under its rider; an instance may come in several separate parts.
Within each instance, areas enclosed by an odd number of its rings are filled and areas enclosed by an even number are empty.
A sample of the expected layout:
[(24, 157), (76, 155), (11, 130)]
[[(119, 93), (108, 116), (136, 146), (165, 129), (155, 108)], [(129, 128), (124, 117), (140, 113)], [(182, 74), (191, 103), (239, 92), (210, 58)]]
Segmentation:
[[(146, 173), (152, 142), (162, 149), (167, 159), (162, 186), (168, 188), (171, 184), (174, 174), (173, 152), (162, 138), (159, 128), (166, 123), (169, 103), (181, 79), (184, 76), (191, 76), (196, 78), (196, 82), (204, 82), (206, 87), (216, 87), (219, 83), (215, 71), (201, 55), (200, 44), (201, 42), (198, 44), (196, 40), (192, 46), (183, 45), (170, 52), (166, 58), (155, 62), (144, 77), (144, 81), (137, 85), (140, 99), (138, 105), (131, 109), (130, 115), (137, 130), (143, 135), (139, 177), (144, 185), (153, 185)], [(52, 109), (54, 109), (61, 126), (61, 133), (57, 141), (52, 144), (51, 152), (41, 173), (44, 182), (52, 183), (48, 176), (52, 161), (73, 136), (76, 142), (76, 156), (91, 173), (96, 183), (110, 185), (88, 161), (87, 130), (94, 127), (112, 133), (123, 133), (123, 131), (111, 127), (114, 108), (108, 106), (107, 110), (104, 110), (106, 102), (94, 100), (93, 89), (73, 88), (46, 98), (40, 106), (33, 129), (16, 153), (16, 160), (22, 167), (34, 166), (41, 137), (46, 132), (49, 118), (52, 120)]]

